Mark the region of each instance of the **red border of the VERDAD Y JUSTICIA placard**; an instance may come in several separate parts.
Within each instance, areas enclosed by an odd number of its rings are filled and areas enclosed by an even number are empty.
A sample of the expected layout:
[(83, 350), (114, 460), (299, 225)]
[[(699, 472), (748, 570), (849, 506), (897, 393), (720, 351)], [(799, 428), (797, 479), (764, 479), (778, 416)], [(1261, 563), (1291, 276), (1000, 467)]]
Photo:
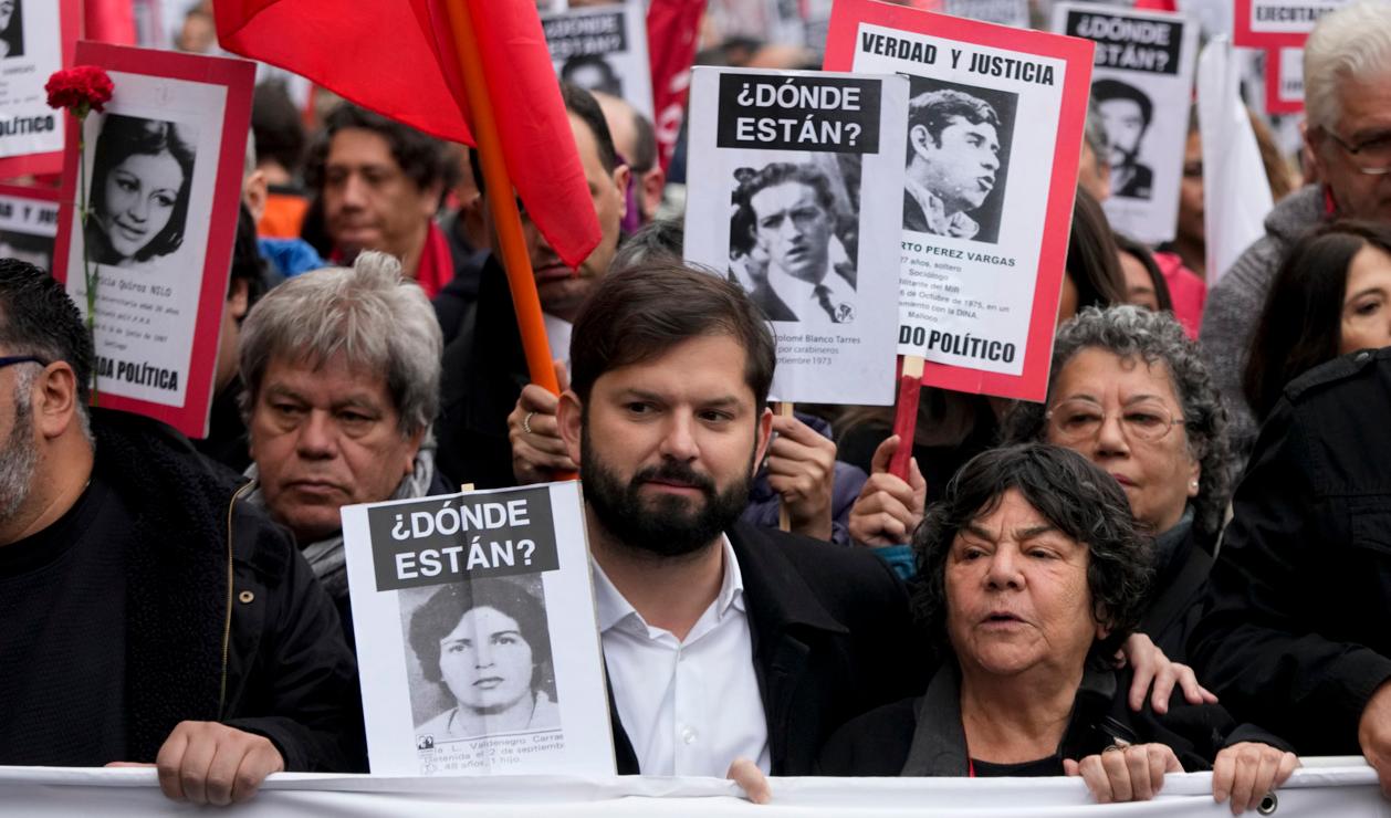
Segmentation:
[(1053, 175), (1049, 182), (1043, 238), (1039, 246), (1039, 274), (1034, 287), (1028, 344), (1024, 351), (1024, 371), (1011, 376), (932, 360), (922, 369), (922, 383), (926, 385), (1043, 401), (1047, 396), (1053, 331), (1057, 326), (1063, 264), (1067, 260), (1067, 242), (1072, 227), (1072, 198), (1077, 191), (1077, 167), (1082, 154), (1082, 128), (1092, 89), (1092, 54), (1096, 45), (1079, 38), (917, 11), (876, 0), (836, 0), (830, 13), (830, 32), (826, 36), (826, 71), (851, 70), (855, 36), (862, 22), (1067, 63), (1059, 113), (1057, 150), (1053, 156)]

